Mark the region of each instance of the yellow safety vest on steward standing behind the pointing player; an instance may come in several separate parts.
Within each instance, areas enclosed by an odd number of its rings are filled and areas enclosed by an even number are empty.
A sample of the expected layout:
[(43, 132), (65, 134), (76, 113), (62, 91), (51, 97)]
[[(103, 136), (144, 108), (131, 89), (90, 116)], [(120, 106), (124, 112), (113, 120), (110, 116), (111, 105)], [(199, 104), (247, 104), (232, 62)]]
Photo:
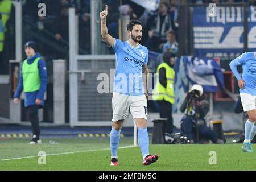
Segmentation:
[(174, 76), (175, 76), (175, 71), (173, 68), (171, 68), (167, 63), (162, 63), (158, 66), (158, 69), (156, 71), (157, 74), (159, 74), (159, 70), (161, 68), (166, 69), (166, 80), (167, 80), (167, 85), (166, 88), (160, 84), (159, 82), (159, 77), (156, 78), (156, 85), (153, 90), (153, 100), (157, 101), (168, 101), (171, 104), (174, 104), (175, 102), (175, 97), (174, 97)]

